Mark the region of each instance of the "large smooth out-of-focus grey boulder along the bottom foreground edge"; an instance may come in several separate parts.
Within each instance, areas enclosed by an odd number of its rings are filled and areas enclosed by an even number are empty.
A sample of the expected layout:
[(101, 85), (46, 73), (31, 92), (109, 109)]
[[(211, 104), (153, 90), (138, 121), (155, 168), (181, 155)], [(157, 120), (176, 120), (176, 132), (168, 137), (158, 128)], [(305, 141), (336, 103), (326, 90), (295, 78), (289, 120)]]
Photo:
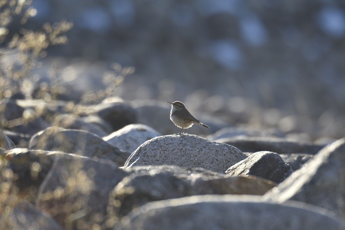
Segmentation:
[(344, 229), (332, 212), (299, 202), (263, 202), (258, 196), (204, 195), (155, 201), (134, 209), (121, 230)]

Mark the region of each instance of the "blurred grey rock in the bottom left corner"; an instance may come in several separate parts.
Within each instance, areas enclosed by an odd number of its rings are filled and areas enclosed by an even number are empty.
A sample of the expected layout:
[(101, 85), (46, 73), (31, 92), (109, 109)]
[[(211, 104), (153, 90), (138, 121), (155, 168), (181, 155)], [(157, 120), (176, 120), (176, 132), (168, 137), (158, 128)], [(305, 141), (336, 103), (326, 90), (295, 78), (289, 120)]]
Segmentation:
[(0, 229), (63, 230), (53, 218), (31, 203), (21, 202), (12, 211), (9, 214), (4, 213), (0, 220)]

